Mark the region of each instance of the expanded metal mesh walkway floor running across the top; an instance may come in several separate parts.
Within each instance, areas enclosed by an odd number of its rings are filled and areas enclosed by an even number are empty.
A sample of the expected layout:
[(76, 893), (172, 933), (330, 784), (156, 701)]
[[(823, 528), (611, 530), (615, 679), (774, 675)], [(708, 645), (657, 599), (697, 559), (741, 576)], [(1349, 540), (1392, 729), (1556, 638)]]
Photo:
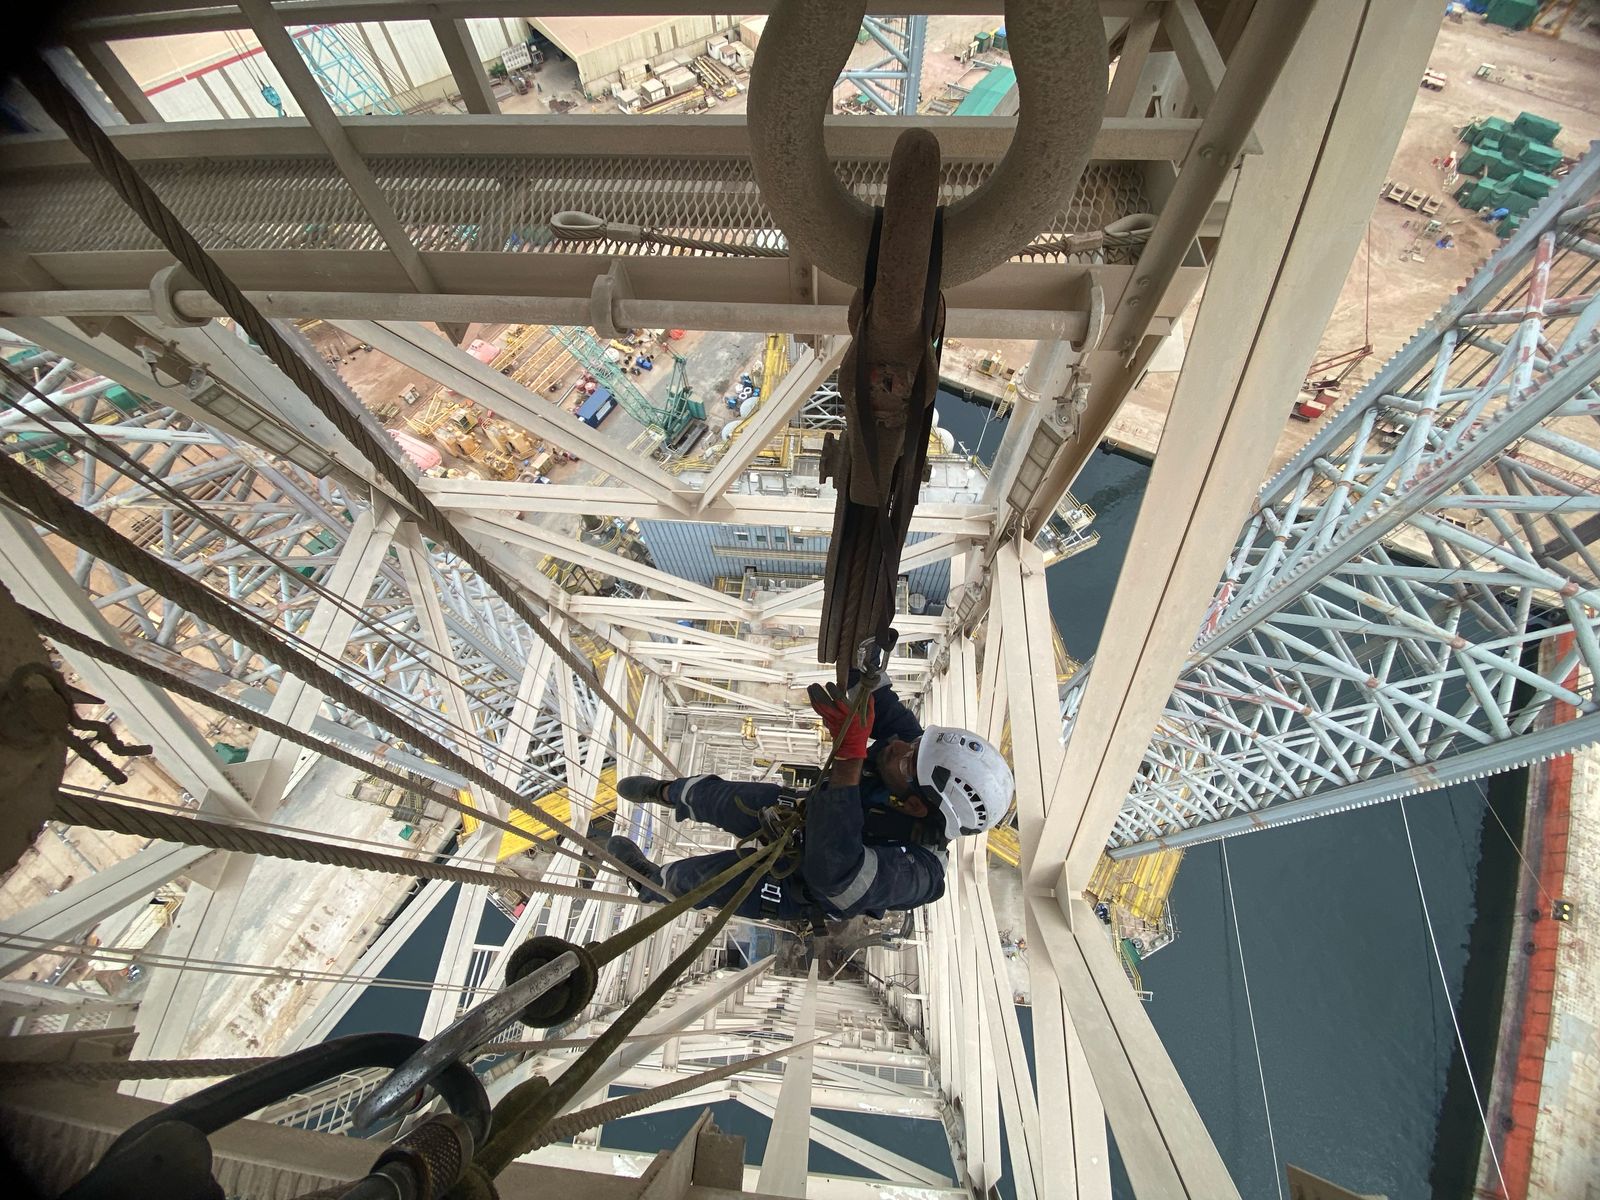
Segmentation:
[[(563, 210), (730, 246), (784, 246), (744, 160), (408, 155), (371, 158), (370, 166), (422, 251), (718, 254), (557, 242), (550, 219)], [(949, 163), (942, 200), (968, 195), (992, 170), (989, 163)], [(141, 171), (208, 250), (384, 246), (328, 158), (163, 162)], [(840, 163), (845, 182), (870, 203), (882, 202), (886, 174), (885, 162)], [(1138, 165), (1093, 163), (1043, 237), (1093, 232), (1142, 211), (1149, 200)], [(18, 248), (29, 253), (160, 248), (86, 165), (0, 176), (0, 214)]]

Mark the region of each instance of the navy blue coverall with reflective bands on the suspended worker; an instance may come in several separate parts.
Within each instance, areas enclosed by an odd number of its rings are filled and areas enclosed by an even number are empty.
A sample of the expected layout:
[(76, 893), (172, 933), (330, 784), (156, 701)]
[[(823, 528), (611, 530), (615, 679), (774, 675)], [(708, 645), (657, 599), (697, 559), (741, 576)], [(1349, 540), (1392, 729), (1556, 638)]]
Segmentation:
[[(874, 744), (867, 750), (859, 787), (824, 787), (805, 805), (800, 869), (782, 880), (765, 880), (739, 906), (741, 917), (805, 920), (821, 907), (834, 918), (918, 909), (944, 894), (944, 854), (912, 840), (914, 818), (890, 808), (890, 789), (875, 760), (886, 741), (915, 741), (922, 725), (888, 685), (874, 693)], [(752, 813), (778, 803), (779, 784), (733, 782), (715, 774), (675, 779), (667, 798), (680, 819), (704, 821), (734, 837), (760, 829)], [(741, 810), (736, 798), (744, 803)], [(662, 880), (683, 894), (726, 870), (739, 851), (725, 850), (678, 859)], [(718, 888), (701, 907), (720, 907), (744, 878)]]

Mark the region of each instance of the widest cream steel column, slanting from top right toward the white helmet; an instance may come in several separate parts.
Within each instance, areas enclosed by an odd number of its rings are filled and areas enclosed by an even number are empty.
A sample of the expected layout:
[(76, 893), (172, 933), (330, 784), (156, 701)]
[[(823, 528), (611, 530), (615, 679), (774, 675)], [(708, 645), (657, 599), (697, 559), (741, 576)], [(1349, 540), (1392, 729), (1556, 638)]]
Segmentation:
[[(1160, 502), (1139, 512), (1141, 552), (1117, 584), (1109, 653), (1094, 664), (1053, 789), (1035, 888), (1075, 894), (1106, 845), (1248, 512), (1253, 493), (1240, 482), (1266, 475), (1282, 397), (1294, 395), (1338, 298), (1411, 107), (1394, 80), (1422, 70), (1434, 16), (1376, 0), (1317, 5), (1269, 98), (1258, 128), (1266, 154), (1240, 168), (1166, 453), (1150, 472), (1147, 496)], [(1246, 29), (1242, 51), (1250, 40)]]

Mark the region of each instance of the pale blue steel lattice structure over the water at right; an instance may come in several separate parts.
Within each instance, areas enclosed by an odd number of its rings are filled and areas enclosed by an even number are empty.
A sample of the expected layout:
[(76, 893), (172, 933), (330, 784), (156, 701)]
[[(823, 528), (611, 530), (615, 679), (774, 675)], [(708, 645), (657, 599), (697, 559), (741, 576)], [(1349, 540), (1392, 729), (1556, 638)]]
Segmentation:
[[(1262, 490), (1115, 850), (1373, 803), (1600, 734), (1597, 192), (1590, 150)], [(1576, 717), (1546, 728), (1555, 702)]]

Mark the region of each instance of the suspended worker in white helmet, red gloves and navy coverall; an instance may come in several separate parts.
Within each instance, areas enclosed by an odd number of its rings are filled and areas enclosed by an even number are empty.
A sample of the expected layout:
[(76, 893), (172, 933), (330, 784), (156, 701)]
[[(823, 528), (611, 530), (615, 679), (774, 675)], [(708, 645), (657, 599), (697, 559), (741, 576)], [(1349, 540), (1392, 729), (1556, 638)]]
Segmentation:
[[(765, 880), (741, 904), (739, 915), (816, 923), (818, 917), (882, 917), (936, 901), (944, 894), (946, 846), (965, 834), (987, 832), (1010, 811), (1011, 768), (976, 733), (923, 730), (888, 683), (867, 698), (859, 715), (835, 685), (811, 685), (808, 694), (838, 752), (826, 786), (805, 802), (798, 867)], [(763, 832), (766, 810), (792, 805), (781, 784), (734, 782), (715, 774), (634, 774), (618, 784), (618, 792), (741, 840)], [(658, 867), (630, 838), (613, 837), (608, 848), (677, 894), (739, 856), (738, 850), (725, 850)], [(699, 907), (720, 907), (738, 883), (707, 896)], [(634, 886), (646, 901), (664, 899), (640, 883)]]

